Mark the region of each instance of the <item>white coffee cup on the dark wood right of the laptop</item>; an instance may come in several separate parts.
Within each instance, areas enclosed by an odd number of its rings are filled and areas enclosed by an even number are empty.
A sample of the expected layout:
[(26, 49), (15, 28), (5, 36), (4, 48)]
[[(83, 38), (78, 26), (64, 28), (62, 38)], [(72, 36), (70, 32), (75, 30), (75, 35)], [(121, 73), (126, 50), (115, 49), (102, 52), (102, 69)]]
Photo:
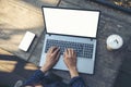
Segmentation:
[(108, 50), (117, 50), (122, 47), (123, 40), (122, 37), (120, 37), (119, 35), (110, 35), (107, 38), (106, 44)]

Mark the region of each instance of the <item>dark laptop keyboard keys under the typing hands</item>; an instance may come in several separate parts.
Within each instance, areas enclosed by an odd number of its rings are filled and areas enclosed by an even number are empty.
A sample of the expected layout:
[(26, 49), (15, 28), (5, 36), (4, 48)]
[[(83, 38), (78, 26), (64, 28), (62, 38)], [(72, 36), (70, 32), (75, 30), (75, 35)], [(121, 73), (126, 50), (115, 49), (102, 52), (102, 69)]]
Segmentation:
[(47, 53), (48, 49), (52, 46), (60, 47), (60, 53), (63, 54), (67, 48), (72, 48), (75, 50), (78, 57), (92, 59), (93, 57), (93, 44), (81, 44), (72, 41), (62, 41), (47, 39), (45, 52)]

